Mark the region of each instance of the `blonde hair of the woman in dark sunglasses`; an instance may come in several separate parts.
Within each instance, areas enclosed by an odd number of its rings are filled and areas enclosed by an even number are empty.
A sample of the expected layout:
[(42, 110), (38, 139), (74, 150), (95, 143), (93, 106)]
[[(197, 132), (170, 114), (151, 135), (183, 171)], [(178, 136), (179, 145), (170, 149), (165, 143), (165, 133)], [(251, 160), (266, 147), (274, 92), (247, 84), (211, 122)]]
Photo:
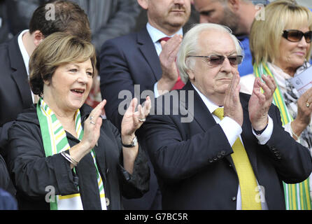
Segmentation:
[[(250, 52), (253, 64), (272, 62), (280, 57), (279, 48), (283, 30), (308, 26), (312, 29), (312, 13), (295, 1), (277, 0), (265, 7), (265, 20), (254, 20), (250, 31)], [(306, 54), (308, 60), (311, 45)]]

